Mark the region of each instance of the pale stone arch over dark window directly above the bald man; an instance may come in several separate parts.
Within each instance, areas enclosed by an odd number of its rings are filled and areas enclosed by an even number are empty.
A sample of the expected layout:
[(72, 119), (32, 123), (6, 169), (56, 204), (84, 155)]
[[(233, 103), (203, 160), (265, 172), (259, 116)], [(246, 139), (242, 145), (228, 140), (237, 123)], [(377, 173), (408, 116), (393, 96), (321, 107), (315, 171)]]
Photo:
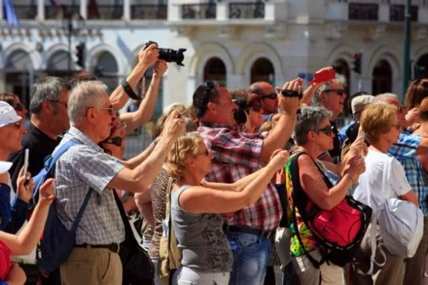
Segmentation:
[(259, 58), (267, 58), (272, 62), (276, 83), (284, 80), (281, 57), (271, 46), (262, 43), (248, 44), (240, 54), (236, 62), (236, 74), (242, 74), (243, 86), (250, 86), (251, 67)]

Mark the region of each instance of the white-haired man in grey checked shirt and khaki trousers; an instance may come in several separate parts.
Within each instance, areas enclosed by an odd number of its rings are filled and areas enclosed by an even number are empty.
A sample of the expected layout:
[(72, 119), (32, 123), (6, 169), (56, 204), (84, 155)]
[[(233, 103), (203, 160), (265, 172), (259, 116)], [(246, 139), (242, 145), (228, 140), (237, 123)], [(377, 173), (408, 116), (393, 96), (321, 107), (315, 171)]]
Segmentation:
[[(112, 189), (142, 192), (161, 170), (170, 147), (185, 131), (178, 112), (168, 117), (161, 140), (147, 159), (139, 155), (119, 161), (98, 146), (110, 134), (116, 114), (104, 84), (88, 81), (74, 87), (68, 100), (71, 128), (58, 150), (69, 140), (79, 144), (69, 148), (55, 164), (58, 218), (67, 230), (88, 191), (93, 191), (76, 230), (76, 244), (60, 265), (62, 284), (121, 284), (122, 266), (119, 244), (125, 230)], [(53, 153), (55, 153), (55, 151)], [(143, 160), (144, 159), (144, 160)]]

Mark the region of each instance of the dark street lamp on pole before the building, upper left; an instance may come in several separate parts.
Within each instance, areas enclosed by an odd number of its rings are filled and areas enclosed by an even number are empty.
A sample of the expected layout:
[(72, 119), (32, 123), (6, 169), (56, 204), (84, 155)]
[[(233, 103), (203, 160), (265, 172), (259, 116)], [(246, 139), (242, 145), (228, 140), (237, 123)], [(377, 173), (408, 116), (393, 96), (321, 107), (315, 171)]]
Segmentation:
[(62, 18), (62, 29), (67, 34), (68, 38), (68, 59), (67, 66), (68, 72), (72, 72), (72, 37), (79, 35), (85, 25), (85, 20), (78, 13), (73, 11), (72, 6), (62, 6), (64, 17)]

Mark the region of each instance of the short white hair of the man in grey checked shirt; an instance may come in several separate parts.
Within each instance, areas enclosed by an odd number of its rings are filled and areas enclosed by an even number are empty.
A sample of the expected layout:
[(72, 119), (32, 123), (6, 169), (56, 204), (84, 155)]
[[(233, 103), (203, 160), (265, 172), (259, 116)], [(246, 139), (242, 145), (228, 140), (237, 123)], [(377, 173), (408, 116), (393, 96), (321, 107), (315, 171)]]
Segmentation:
[(105, 102), (105, 84), (101, 81), (86, 81), (77, 84), (68, 98), (68, 118), (72, 126), (81, 124), (90, 107), (102, 106)]

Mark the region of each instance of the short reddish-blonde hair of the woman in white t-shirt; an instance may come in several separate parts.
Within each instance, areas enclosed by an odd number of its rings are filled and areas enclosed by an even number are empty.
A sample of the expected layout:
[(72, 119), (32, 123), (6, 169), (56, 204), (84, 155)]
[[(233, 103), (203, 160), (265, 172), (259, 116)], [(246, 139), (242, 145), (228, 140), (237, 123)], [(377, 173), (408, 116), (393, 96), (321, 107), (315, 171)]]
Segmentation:
[(369, 143), (376, 143), (380, 134), (389, 132), (396, 112), (396, 106), (382, 102), (370, 104), (364, 109), (361, 126)]

